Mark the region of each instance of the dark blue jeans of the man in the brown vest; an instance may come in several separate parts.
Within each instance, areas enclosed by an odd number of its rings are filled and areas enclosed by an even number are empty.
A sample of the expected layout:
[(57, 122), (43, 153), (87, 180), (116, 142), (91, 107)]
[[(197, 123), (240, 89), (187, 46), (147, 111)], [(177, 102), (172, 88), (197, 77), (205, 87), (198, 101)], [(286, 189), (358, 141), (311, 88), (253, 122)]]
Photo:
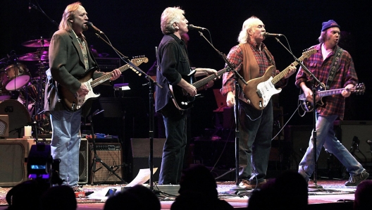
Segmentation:
[(239, 101), (239, 178), (261, 183), (267, 172), (273, 137), (273, 100), (263, 111)]

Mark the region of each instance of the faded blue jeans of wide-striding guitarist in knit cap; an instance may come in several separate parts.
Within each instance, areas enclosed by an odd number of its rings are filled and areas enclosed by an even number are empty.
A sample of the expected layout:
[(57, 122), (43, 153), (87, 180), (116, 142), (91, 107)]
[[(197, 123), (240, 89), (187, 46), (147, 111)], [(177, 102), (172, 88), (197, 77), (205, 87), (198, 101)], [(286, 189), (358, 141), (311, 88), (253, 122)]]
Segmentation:
[[(316, 160), (318, 160), (321, 148), (333, 154), (347, 169), (350, 175), (357, 175), (361, 173), (364, 168), (361, 163), (356, 161), (354, 156), (341, 144), (335, 137), (333, 130), (333, 122), (337, 115), (320, 116), (316, 113)], [(307, 181), (314, 172), (314, 144), (313, 134), (309, 140), (309, 147), (306, 150), (304, 157), (299, 163), (299, 174), (301, 174)]]

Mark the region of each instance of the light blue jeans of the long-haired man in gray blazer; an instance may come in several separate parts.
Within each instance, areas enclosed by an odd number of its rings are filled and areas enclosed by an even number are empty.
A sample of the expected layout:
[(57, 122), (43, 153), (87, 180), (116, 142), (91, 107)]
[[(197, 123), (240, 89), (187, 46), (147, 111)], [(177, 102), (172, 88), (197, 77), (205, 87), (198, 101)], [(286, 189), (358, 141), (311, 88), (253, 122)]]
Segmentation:
[(51, 156), (61, 159), (59, 177), (62, 185), (73, 187), (79, 181), (81, 109), (75, 112), (51, 111)]

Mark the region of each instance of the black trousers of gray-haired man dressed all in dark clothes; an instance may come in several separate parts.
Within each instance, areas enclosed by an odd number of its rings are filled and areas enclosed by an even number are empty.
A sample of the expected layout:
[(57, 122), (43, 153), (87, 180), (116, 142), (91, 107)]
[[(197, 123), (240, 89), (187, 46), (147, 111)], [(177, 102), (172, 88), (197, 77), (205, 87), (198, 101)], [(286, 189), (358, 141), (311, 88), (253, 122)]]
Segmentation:
[(187, 144), (186, 121), (187, 114), (173, 117), (164, 115), (166, 127), (166, 142), (163, 147), (159, 185), (177, 185), (180, 183), (183, 157)]

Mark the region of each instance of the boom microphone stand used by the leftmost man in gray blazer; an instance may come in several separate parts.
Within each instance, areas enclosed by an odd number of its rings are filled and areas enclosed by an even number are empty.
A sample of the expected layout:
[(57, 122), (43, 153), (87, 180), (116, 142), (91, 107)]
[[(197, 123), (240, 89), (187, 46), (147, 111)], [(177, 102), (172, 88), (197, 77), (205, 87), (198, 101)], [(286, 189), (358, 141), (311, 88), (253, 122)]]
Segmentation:
[[(145, 78), (147, 78), (147, 80), (149, 80), (149, 83), (147, 83), (147, 85), (149, 85), (149, 139), (150, 139), (150, 154), (149, 154), (150, 180), (149, 180), (149, 183), (150, 183), (150, 190), (152, 191), (152, 190), (154, 190), (154, 177), (153, 177), (153, 171), (154, 171), (154, 166), (153, 166), (154, 165), (154, 94), (153, 94), (152, 88), (154, 87), (153, 84), (155, 84), (159, 88), (163, 88), (163, 87), (161, 87), (161, 85), (159, 85), (158, 82), (156, 82), (149, 75), (147, 75), (147, 73), (144, 73), (143, 70), (138, 68), (138, 66), (135, 66), (135, 64), (132, 63), (128, 59), (127, 56), (124, 56), (122, 53), (120, 53), (120, 51), (118, 51), (115, 47), (113, 47), (111, 42), (107, 42), (98, 33), (96, 33), (96, 35), (97, 35), (97, 37), (102, 39), (104, 42), (106, 42), (106, 44), (109, 44), (109, 46), (116, 52), (116, 54), (118, 54), (118, 56), (120, 57), (121, 60), (123, 60), (125, 63), (130, 65), (135, 70), (137, 70), (137, 72), (140, 72), (143, 75), (145, 75)], [(105, 37), (106, 37), (106, 35), (105, 35)], [(109, 38), (107, 38), (107, 39), (109, 39)]]

